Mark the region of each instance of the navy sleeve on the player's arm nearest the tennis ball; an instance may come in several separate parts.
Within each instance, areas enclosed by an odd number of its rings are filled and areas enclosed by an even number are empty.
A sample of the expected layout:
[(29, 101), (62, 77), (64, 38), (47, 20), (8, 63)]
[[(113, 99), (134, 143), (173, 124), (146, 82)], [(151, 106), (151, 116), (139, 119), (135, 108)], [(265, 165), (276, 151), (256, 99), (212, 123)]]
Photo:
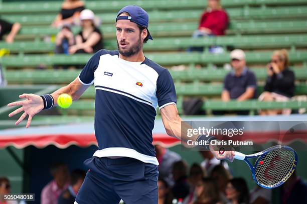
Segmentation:
[(97, 51), (85, 64), (79, 74), (79, 81), (84, 85), (90, 85), (94, 82), (94, 71), (98, 67), (101, 50)]

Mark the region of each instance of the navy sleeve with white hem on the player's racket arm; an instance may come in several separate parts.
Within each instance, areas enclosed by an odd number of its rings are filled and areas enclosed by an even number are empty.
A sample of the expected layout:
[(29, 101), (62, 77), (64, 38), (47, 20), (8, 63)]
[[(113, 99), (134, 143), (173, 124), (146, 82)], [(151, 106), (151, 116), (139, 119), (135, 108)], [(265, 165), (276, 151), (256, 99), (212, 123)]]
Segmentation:
[(163, 70), (158, 76), (156, 94), (160, 109), (177, 102), (175, 84), (168, 69)]

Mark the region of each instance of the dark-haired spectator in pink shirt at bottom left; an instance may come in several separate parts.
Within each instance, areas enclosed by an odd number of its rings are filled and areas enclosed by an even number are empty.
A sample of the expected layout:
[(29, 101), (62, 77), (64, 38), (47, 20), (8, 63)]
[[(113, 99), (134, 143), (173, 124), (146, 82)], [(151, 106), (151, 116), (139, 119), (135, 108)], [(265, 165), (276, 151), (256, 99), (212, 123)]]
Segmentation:
[(60, 194), (69, 186), (69, 171), (66, 164), (53, 164), (50, 172), (54, 179), (43, 188), (41, 204), (57, 204)]

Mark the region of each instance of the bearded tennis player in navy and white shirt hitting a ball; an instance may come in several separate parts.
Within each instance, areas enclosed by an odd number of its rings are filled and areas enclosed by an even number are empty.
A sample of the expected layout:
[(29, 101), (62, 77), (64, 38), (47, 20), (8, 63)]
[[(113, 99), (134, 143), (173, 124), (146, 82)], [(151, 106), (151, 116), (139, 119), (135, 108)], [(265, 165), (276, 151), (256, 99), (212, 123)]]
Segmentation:
[[(52, 94), (22, 94), (22, 105), (9, 116), (21, 111), (19, 124), (29, 115), (57, 105), (61, 93), (73, 100), (94, 83), (95, 135), (99, 149), (84, 161), (89, 170), (77, 194), (75, 203), (130, 204), (158, 203), (158, 160), (152, 145), (152, 129), (159, 106), (166, 132), (181, 138), (181, 121), (176, 108), (176, 91), (168, 69), (144, 56), (142, 47), (152, 39), (148, 31), (148, 14), (141, 7), (123, 7), (116, 17), (118, 50), (101, 49), (67, 86)], [(186, 140), (186, 138), (181, 138)], [(214, 137), (195, 135), (194, 141)], [(233, 160), (234, 152), (219, 155), (211, 145), (205, 145), (219, 159)]]

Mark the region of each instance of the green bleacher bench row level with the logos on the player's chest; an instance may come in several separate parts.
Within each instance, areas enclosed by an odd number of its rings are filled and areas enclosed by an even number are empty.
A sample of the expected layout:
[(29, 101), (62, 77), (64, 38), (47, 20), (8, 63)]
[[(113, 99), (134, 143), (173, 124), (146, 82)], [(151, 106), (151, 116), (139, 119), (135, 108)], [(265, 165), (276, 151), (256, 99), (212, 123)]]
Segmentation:
[[(294, 67), (291, 68), (295, 73), (296, 80), (307, 80), (307, 67)], [(256, 74), (258, 80), (264, 80), (267, 76), (265, 67), (251, 68)], [(67, 70), (7, 70), (5, 78), (9, 84), (14, 83), (69, 83), (74, 80), (80, 73), (78, 69)], [(228, 70), (223, 68), (211, 69), (191, 68), (188, 70), (174, 71), (170, 70), (175, 82), (178, 81), (223, 81)], [(306, 91), (307, 92), (307, 91)]]

